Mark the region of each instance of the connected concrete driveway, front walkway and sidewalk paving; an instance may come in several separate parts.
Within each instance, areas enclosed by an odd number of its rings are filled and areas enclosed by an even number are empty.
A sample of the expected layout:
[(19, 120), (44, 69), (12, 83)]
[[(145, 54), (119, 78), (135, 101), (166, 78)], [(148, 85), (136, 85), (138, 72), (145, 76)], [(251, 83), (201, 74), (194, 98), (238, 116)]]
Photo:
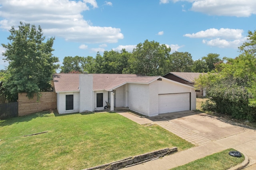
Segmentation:
[(123, 170), (169, 170), (228, 148), (234, 148), (248, 156), (250, 160), (247, 165), (248, 170), (256, 166), (256, 131), (254, 129), (232, 125), (218, 117), (194, 111), (166, 113), (148, 118), (140, 118), (127, 112), (118, 113), (139, 124), (158, 124), (196, 145), (196, 147), (123, 168)]

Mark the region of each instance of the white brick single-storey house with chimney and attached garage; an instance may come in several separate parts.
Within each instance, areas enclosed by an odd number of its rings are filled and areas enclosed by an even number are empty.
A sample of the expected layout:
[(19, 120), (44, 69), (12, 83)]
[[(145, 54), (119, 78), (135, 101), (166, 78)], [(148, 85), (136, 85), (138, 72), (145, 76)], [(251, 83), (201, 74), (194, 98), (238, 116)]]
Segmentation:
[(143, 115), (195, 110), (194, 87), (161, 76), (54, 74), (60, 114), (128, 107)]

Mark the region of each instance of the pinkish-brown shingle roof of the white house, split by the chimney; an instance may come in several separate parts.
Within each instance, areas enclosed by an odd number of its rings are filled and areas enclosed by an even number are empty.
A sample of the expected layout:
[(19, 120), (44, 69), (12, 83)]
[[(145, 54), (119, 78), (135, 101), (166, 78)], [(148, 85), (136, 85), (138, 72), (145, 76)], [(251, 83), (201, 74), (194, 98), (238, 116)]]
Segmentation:
[[(112, 90), (125, 83), (148, 84), (159, 76), (140, 76), (137, 74), (92, 74), (93, 90)], [(54, 74), (54, 87), (56, 92), (79, 91), (79, 74)]]

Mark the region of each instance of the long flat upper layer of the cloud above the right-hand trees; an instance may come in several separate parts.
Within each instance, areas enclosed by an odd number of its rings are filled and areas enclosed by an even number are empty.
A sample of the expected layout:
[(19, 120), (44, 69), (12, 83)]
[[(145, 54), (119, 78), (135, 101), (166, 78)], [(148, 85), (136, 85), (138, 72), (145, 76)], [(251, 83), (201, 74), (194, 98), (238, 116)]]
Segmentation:
[(229, 29), (229, 28), (210, 28), (205, 31), (199, 31), (197, 33), (185, 34), (184, 37), (190, 38), (213, 38), (213, 37), (222, 37), (226, 39), (240, 39), (242, 37), (242, 29)]

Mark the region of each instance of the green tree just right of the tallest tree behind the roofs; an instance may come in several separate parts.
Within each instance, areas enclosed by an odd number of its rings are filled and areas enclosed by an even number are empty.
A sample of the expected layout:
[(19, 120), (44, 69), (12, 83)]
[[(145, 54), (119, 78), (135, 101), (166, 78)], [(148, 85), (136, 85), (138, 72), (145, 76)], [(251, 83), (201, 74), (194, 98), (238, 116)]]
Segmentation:
[(188, 52), (175, 51), (168, 57), (168, 70), (172, 72), (191, 72), (194, 61)]

